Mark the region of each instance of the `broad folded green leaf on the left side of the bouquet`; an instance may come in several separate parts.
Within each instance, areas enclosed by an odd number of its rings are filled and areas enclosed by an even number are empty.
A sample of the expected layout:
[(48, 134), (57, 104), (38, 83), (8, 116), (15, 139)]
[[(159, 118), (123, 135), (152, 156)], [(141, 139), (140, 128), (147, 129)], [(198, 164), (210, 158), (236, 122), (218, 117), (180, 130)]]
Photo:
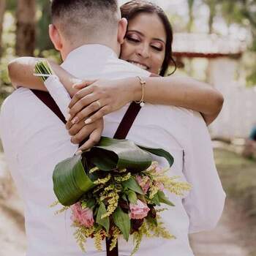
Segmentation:
[(63, 206), (77, 203), (95, 184), (86, 175), (81, 156), (74, 156), (56, 165), (53, 171), (53, 190)]

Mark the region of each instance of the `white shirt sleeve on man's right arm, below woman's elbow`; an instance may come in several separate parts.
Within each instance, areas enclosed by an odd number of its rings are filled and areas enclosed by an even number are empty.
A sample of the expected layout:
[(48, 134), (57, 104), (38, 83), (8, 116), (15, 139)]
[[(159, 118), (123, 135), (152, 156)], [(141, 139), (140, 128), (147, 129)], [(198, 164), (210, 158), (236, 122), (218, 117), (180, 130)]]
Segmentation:
[(184, 155), (184, 176), (192, 190), (184, 198), (189, 233), (216, 227), (225, 205), (225, 192), (214, 163), (211, 138), (200, 113), (193, 113), (190, 143)]

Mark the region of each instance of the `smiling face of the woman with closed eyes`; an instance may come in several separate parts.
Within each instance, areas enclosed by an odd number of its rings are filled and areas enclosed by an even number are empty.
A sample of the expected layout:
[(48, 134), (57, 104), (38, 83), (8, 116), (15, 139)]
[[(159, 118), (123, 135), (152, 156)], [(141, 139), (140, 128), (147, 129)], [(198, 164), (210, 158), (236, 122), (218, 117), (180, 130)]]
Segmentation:
[(165, 59), (165, 26), (157, 14), (140, 13), (129, 20), (121, 59), (158, 74)]

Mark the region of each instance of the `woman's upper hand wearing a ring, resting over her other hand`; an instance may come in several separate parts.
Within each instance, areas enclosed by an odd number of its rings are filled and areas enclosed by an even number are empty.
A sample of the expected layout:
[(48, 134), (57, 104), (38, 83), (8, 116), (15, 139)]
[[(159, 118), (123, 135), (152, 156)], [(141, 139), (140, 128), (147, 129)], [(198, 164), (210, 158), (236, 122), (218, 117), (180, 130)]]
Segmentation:
[(74, 85), (79, 91), (69, 104), (69, 125), (90, 124), (135, 100), (140, 83), (136, 78), (85, 81)]

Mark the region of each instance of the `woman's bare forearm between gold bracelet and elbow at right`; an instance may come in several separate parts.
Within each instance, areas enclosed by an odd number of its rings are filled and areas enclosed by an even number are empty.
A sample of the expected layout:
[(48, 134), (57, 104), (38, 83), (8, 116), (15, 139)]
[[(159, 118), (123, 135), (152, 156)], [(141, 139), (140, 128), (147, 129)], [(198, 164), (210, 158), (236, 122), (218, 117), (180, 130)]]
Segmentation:
[[(206, 124), (211, 124), (222, 110), (224, 98), (207, 83), (187, 77), (145, 78), (145, 101), (174, 105), (202, 113)], [(137, 90), (140, 100), (141, 91)]]

